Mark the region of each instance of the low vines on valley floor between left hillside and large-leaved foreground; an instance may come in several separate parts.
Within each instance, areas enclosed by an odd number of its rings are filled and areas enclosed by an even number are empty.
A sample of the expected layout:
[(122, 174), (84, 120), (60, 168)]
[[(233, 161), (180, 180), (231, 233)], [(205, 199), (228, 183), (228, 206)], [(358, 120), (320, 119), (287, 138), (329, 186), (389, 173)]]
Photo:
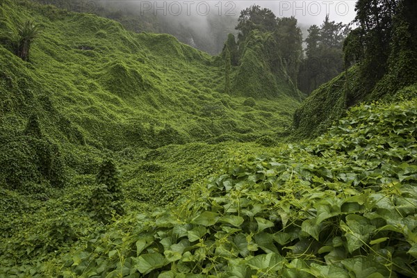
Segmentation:
[[(170, 206), (194, 183), (217, 173), (224, 161), (255, 150), (265, 152), (254, 143), (223, 142), (131, 148), (109, 154), (118, 170), (106, 175), (119, 173), (121, 194), (117, 196), (123, 196), (122, 203), (108, 203), (109, 196), (100, 184), (110, 186), (101, 178), (103, 174), (76, 175), (62, 189), (35, 183), (24, 190), (1, 188), (0, 276), (56, 277), (61, 263), (54, 261), (57, 254), (70, 252), (91, 234), (104, 233), (106, 224), (121, 219), (120, 211), (129, 215)], [(99, 173), (106, 169), (98, 168)]]

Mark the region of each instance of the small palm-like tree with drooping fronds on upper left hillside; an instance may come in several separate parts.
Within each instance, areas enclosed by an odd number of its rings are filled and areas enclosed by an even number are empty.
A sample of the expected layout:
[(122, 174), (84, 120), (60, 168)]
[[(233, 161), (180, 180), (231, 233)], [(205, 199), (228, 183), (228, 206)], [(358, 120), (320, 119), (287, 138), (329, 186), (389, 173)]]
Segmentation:
[(31, 42), (39, 35), (39, 27), (31, 20), (17, 25), (17, 56), (22, 60), (29, 60)]

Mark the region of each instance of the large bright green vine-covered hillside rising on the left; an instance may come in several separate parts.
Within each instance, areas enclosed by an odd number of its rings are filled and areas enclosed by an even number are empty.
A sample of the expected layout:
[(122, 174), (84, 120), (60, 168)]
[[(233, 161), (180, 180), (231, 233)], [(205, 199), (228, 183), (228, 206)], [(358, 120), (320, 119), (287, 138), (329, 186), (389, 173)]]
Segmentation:
[[(1, 164), (17, 161), (14, 177), (8, 168), (2, 174), (9, 187), (20, 176), (63, 179), (49, 174), (65, 175), (65, 165), (85, 172), (90, 152), (104, 149), (276, 138), (299, 104), (284, 91), (251, 106), (224, 94), (224, 65), (170, 35), (130, 33), (108, 19), (30, 1), (1, 8), (0, 140), (8, 154)], [(13, 54), (12, 40), (27, 19), (41, 29), (30, 63)], [(42, 131), (36, 142), (29, 119)], [(37, 169), (51, 152), (62, 154), (62, 169), (52, 162)]]

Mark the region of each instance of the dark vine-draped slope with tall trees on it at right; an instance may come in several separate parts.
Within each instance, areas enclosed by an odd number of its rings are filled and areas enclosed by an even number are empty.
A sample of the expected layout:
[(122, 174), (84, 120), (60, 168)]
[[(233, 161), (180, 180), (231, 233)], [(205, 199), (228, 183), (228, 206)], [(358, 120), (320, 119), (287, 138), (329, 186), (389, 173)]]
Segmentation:
[[(343, 42), (345, 65), (352, 65), (352, 69), (320, 86), (297, 110), (294, 127), (298, 136), (316, 136), (340, 118), (346, 108), (393, 97), (417, 82), (416, 2), (361, 0), (356, 9), (359, 27), (350, 31)], [(323, 113), (318, 115), (316, 111), (321, 108), (315, 105), (324, 96)]]

